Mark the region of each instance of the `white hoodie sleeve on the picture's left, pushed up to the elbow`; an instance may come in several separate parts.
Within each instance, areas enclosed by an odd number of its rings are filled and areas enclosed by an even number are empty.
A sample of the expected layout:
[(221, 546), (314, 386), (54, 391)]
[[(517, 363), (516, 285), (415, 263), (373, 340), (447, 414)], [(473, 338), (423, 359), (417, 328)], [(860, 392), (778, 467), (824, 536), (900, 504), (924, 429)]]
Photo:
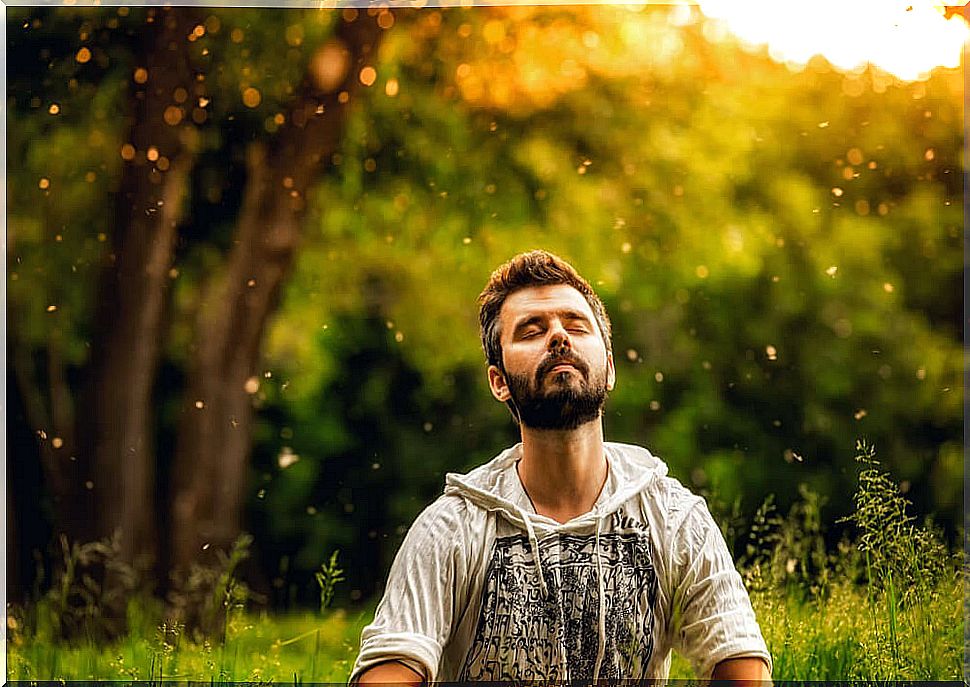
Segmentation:
[(427, 682), (436, 679), (454, 624), (459, 586), (467, 577), (458, 501), (438, 499), (405, 536), (374, 621), (361, 632), (351, 683), (368, 668), (392, 660), (420, 668)]

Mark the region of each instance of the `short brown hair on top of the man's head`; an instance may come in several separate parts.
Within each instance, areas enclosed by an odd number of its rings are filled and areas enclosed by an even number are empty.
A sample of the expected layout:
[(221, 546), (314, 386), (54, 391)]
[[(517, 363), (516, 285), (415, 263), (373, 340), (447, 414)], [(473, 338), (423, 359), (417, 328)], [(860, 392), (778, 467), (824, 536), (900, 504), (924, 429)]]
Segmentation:
[(571, 286), (583, 294), (593, 311), (593, 316), (596, 317), (596, 324), (606, 345), (606, 352), (613, 351), (610, 318), (606, 314), (603, 301), (593, 291), (593, 287), (562, 258), (544, 250), (533, 250), (516, 255), (492, 272), (488, 283), (478, 296), (482, 349), (485, 351), (485, 360), (489, 365), (505, 369), (502, 365), (502, 341), (498, 325), (499, 313), (505, 299), (519, 289), (556, 284)]

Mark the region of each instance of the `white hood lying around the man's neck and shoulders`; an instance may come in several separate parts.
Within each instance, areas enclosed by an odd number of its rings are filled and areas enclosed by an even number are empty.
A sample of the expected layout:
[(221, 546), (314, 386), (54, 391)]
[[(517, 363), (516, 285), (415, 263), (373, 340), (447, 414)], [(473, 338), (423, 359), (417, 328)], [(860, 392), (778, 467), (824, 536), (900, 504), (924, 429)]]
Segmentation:
[(522, 458), (522, 444), (506, 449), (471, 472), (445, 476), (445, 494), (461, 496), (470, 504), (501, 514), (522, 529), (533, 526), (543, 532), (587, 530), (597, 520), (614, 513), (623, 503), (643, 491), (654, 480), (666, 476), (666, 464), (645, 448), (604, 442), (609, 474), (596, 505), (569, 522), (558, 523), (529, 512), (528, 500), (515, 464)]

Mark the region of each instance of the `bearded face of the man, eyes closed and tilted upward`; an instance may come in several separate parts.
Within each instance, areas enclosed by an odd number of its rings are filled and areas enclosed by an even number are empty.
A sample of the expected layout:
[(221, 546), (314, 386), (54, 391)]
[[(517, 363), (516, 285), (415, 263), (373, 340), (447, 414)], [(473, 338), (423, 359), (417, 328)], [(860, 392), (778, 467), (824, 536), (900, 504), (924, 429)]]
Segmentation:
[(499, 313), (503, 373), (488, 370), (492, 394), (532, 429), (575, 429), (599, 418), (613, 388), (613, 358), (593, 311), (571, 286), (510, 295)]

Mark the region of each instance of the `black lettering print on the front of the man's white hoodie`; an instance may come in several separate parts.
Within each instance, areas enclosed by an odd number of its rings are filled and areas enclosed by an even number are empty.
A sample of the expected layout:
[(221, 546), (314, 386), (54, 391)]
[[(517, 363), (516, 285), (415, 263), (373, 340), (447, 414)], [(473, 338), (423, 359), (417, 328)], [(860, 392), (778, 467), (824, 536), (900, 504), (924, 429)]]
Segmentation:
[[(649, 534), (636, 524), (599, 537), (606, 621), (601, 679), (644, 677), (653, 655), (657, 574)], [(528, 537), (495, 540), (459, 681), (592, 679), (600, 642), (596, 535), (547, 537), (539, 555), (545, 598)]]

